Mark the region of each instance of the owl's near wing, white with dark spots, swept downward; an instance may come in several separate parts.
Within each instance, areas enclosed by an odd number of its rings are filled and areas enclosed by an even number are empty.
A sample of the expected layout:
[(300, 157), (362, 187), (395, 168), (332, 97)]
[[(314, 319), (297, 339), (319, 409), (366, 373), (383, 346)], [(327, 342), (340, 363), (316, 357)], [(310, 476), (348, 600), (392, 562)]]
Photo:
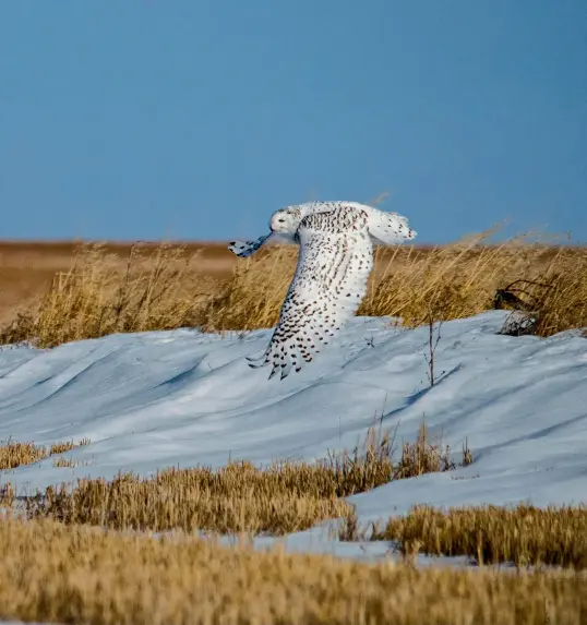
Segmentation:
[(304, 217), (297, 237), (296, 274), (265, 353), (251, 366), (271, 364), (281, 380), (310, 362), (349, 321), (364, 297), (373, 266), (367, 212), (342, 208)]

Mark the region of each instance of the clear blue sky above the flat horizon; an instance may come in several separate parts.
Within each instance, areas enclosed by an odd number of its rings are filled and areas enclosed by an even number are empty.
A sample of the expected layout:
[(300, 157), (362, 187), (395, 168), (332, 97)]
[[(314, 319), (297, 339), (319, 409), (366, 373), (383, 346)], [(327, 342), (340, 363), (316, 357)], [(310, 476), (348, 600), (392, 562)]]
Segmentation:
[(0, 238), (370, 201), (587, 240), (585, 0), (0, 0)]

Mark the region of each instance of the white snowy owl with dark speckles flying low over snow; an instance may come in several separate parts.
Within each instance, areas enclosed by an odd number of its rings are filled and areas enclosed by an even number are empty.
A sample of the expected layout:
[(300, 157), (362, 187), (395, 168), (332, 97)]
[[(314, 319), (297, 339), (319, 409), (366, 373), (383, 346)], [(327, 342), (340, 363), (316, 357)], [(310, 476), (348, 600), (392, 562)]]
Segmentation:
[(272, 365), (269, 380), (300, 371), (349, 321), (367, 292), (373, 242), (395, 245), (416, 238), (408, 219), (358, 202), (308, 202), (276, 211), (271, 232), (256, 241), (232, 241), (237, 256), (250, 256), (271, 237), (300, 247), (296, 274), (279, 322), (263, 356), (249, 366)]

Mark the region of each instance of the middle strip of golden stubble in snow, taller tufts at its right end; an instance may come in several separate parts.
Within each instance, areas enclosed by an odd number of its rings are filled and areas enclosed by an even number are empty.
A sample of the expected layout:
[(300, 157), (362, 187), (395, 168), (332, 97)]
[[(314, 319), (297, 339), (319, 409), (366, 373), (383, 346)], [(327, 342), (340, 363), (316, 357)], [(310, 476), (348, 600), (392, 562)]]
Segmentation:
[[(467, 456), (470, 460), (470, 452)], [(340, 497), (455, 466), (448, 449), (431, 442), (426, 428), (415, 443), (402, 446), (397, 461), (393, 438), (371, 430), (351, 453), (330, 455), (312, 465), (276, 462), (256, 468), (231, 462), (218, 470), (173, 468), (153, 478), (125, 473), (110, 481), (79, 480), (75, 488), (51, 486), (26, 500), (25, 514), (118, 530), (280, 536), (345, 517), (350, 508)]]

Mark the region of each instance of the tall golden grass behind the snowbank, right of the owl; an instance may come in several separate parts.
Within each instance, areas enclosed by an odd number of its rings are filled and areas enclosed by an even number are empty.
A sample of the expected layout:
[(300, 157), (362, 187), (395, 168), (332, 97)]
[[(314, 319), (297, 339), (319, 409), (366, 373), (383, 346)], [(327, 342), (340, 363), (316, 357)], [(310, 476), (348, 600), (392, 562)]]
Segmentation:
[[(539, 336), (587, 326), (585, 309), (577, 307), (587, 293), (587, 249), (547, 247), (523, 238), (488, 245), (491, 235), (424, 253), (398, 248), (359, 314), (397, 316), (415, 327), (431, 318), (447, 321), (493, 308), (517, 308), (540, 320), (535, 326)], [(548, 297), (496, 300), (519, 279), (546, 285)]]

